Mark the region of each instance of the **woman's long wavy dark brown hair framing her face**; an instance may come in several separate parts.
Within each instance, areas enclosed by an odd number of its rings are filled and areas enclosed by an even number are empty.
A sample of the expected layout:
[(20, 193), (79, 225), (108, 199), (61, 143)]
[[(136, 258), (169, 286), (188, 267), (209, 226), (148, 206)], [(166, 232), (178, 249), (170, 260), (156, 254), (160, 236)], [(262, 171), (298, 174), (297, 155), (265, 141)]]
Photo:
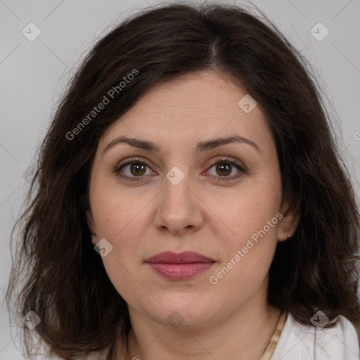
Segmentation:
[[(342, 315), (360, 325), (359, 212), (309, 63), (265, 16), (238, 6), (170, 4), (132, 15), (98, 41), (41, 143), (27, 208), (15, 224), (21, 236), (7, 294), (9, 308), (13, 298), (23, 316), (40, 317), (35, 330), (51, 354), (74, 359), (103, 350), (111, 360), (118, 338), (126, 344), (127, 304), (91, 245), (84, 213), (91, 163), (105, 129), (149, 89), (199, 70), (231, 75), (262, 105), (283, 199), (301, 214), (292, 240), (277, 245), (269, 303), (303, 324), (321, 309), (330, 321)], [(89, 117), (104, 96), (109, 103)], [(24, 327), (27, 354), (30, 334)]]

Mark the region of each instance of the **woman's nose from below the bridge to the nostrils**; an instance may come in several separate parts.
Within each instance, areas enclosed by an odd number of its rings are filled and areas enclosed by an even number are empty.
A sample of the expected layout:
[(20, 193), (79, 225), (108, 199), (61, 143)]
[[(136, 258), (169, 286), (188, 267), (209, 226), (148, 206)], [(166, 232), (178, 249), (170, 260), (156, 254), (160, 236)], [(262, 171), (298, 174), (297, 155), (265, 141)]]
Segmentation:
[(193, 233), (203, 226), (203, 202), (196, 194), (194, 184), (185, 174), (179, 184), (165, 178), (164, 188), (158, 195), (158, 206), (154, 218), (160, 231), (181, 235)]

